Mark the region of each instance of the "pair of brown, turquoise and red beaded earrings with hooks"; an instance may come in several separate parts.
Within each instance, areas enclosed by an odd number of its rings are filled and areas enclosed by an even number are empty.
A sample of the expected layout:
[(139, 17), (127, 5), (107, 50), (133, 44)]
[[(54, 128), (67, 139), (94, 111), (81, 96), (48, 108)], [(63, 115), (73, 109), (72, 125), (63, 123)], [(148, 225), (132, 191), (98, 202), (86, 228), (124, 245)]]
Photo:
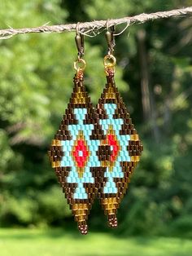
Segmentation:
[(117, 227), (117, 209), (142, 153), (142, 143), (114, 81), (114, 27), (110, 32), (107, 29), (106, 36), (107, 84), (94, 108), (84, 86), (83, 35), (76, 29), (74, 88), (49, 151), (81, 234), (88, 231), (87, 218), (95, 196), (107, 215), (108, 225)]

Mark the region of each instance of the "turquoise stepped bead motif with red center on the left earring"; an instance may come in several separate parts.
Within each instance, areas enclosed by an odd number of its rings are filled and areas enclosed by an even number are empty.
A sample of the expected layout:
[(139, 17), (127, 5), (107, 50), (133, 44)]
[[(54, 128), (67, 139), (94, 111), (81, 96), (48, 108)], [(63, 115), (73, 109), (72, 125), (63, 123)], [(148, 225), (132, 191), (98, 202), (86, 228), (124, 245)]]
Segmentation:
[(100, 166), (96, 152), (97, 140), (90, 140), (89, 136), (94, 130), (93, 124), (84, 124), (86, 108), (75, 108), (77, 124), (69, 125), (68, 130), (72, 140), (62, 140), (63, 157), (60, 163), (62, 167), (71, 167), (67, 177), (68, 183), (76, 183), (77, 187), (73, 199), (88, 199), (84, 183), (94, 183), (91, 167)]

